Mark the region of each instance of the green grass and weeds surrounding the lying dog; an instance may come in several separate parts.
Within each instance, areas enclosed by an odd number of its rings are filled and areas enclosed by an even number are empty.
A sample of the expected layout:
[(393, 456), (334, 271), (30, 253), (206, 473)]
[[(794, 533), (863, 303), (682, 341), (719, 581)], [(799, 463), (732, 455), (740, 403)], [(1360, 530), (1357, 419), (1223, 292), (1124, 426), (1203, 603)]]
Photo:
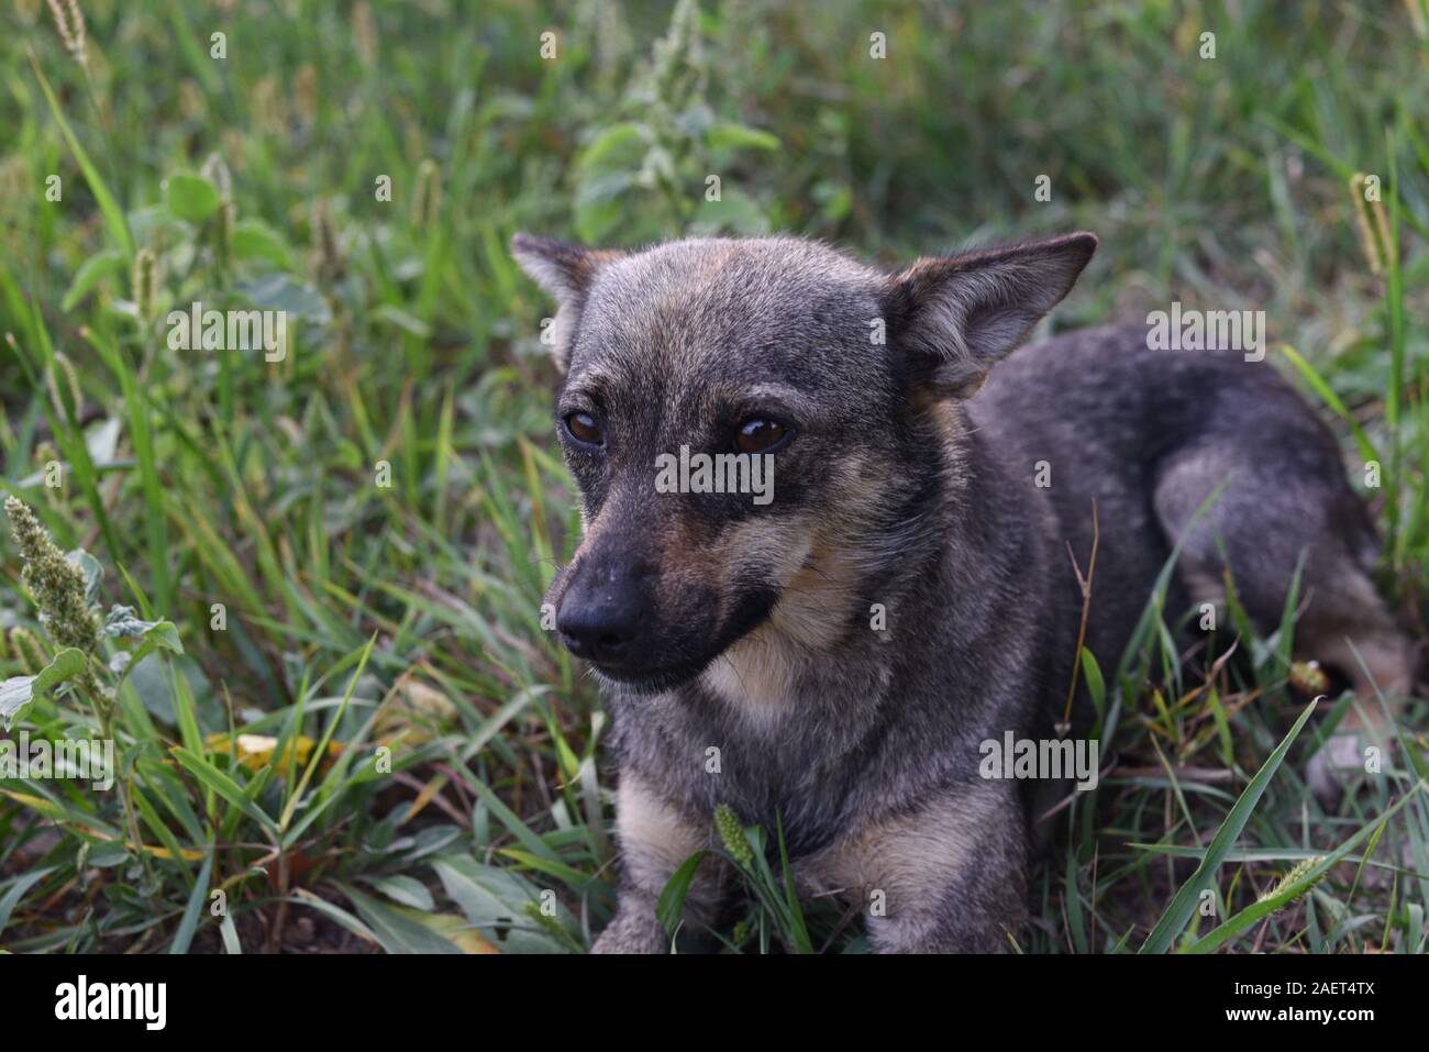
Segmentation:
[[(81, 6), (83, 66), (44, 4), (0, 14), (0, 487), (181, 652), (106, 636), (97, 692), (20, 709), (31, 739), (111, 728), (123, 793), (0, 779), (4, 949), (576, 952), (609, 920), (600, 703), (540, 623), (576, 517), (517, 229), (886, 262), (1096, 230), (1056, 323), (1263, 307), (1429, 635), (1422, 0), (706, 0), (674, 30), (656, 3)], [(170, 350), (193, 300), (286, 307), (290, 353)], [(1083, 660), (1112, 768), (1056, 816), (1020, 949), (1423, 952), (1425, 772), (1333, 815), (1299, 775), (1378, 702), (1298, 723), (1293, 609), (1180, 655), (1147, 599), (1127, 655)], [(0, 627), (0, 675), (54, 656), (9, 535)], [(1413, 702), (1405, 743), (1426, 725)], [(759, 865), (779, 830), (742, 833), (717, 945), (863, 946)]]

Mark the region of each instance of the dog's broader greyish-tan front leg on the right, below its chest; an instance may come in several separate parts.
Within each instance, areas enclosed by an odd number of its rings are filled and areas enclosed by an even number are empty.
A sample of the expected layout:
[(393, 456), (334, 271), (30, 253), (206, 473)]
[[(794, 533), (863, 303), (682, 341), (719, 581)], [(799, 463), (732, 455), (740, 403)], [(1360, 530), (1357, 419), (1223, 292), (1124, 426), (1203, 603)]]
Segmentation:
[(1005, 953), (1027, 915), (1027, 829), (1012, 782), (977, 782), (865, 823), (819, 880), (862, 896), (879, 953)]

